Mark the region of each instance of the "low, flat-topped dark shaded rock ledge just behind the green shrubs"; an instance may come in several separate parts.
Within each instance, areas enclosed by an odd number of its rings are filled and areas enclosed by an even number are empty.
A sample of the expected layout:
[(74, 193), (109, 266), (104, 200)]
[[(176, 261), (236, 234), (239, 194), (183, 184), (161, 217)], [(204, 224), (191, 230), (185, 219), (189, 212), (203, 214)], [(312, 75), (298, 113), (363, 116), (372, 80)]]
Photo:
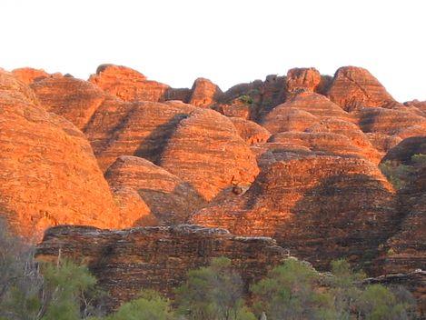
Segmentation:
[(172, 295), (188, 270), (208, 265), (213, 257), (230, 258), (248, 287), (286, 256), (271, 238), (234, 236), (194, 225), (123, 231), (58, 226), (46, 232), (37, 258), (54, 261), (59, 250), (89, 265), (111, 295), (113, 308), (134, 298), (141, 288)]

